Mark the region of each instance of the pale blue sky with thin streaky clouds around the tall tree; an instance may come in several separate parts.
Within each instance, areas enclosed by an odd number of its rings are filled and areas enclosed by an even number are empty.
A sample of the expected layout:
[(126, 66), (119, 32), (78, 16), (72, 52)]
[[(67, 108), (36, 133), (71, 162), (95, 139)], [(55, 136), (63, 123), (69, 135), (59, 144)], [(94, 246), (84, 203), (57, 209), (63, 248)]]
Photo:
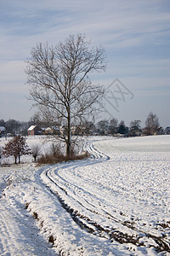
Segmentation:
[(126, 125), (148, 113), (170, 126), (169, 0), (0, 0), (0, 119), (26, 121), (26, 60), (37, 43), (58, 44), (70, 34), (102, 44), (107, 70), (92, 77), (105, 85), (105, 113)]

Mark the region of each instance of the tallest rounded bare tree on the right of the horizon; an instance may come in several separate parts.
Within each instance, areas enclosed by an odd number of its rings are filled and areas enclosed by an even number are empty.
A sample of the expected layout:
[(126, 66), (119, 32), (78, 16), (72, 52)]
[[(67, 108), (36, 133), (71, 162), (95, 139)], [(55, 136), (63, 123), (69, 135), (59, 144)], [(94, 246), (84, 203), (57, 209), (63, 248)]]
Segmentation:
[(148, 135), (153, 135), (155, 131), (158, 130), (160, 124), (159, 119), (155, 113), (150, 112), (146, 121), (145, 121), (145, 129)]

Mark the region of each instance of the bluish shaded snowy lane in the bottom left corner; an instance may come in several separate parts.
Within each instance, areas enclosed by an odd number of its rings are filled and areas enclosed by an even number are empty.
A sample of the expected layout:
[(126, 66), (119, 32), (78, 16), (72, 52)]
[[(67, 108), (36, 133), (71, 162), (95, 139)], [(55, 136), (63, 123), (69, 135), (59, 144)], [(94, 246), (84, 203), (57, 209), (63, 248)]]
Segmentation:
[(51, 255), (48, 243), (39, 234), (35, 220), (25, 207), (15, 201), (14, 195), (9, 200), (8, 195), (1, 192), (0, 255)]

